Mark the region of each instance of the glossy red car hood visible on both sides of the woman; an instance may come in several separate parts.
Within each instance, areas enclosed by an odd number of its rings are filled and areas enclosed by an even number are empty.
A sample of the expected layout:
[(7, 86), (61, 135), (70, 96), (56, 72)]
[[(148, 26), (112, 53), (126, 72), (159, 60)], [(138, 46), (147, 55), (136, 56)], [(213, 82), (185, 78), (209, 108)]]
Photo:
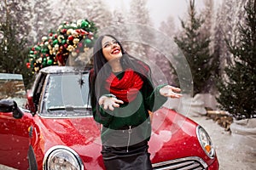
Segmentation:
[[(34, 143), (42, 155), (55, 145), (66, 145), (75, 150), (85, 167), (102, 168), (102, 144), (100, 125), (93, 117), (47, 119), (35, 116), (37, 139)], [(205, 156), (196, 137), (197, 124), (189, 118), (167, 108), (161, 108), (152, 116), (152, 135), (149, 141), (153, 163), (187, 156)], [(43, 158), (42, 158), (43, 159)]]

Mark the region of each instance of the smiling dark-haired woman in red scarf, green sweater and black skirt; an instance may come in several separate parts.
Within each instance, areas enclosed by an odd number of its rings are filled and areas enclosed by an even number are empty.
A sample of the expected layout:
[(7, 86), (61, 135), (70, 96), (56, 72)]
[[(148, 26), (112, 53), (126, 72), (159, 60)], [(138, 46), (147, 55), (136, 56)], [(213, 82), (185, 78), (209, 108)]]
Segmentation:
[[(107, 169), (152, 169), (148, 153), (151, 124), (167, 97), (180, 98), (179, 88), (154, 88), (150, 68), (126, 54), (117, 39), (98, 37), (90, 71), (93, 116), (102, 124), (102, 157)], [(177, 93), (176, 93), (177, 92)]]

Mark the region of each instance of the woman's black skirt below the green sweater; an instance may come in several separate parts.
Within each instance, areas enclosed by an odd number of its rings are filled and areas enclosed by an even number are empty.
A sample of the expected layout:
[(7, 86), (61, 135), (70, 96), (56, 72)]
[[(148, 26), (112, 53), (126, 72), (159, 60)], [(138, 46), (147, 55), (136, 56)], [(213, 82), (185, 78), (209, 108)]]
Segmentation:
[(128, 147), (102, 145), (102, 157), (107, 170), (152, 170), (148, 141)]

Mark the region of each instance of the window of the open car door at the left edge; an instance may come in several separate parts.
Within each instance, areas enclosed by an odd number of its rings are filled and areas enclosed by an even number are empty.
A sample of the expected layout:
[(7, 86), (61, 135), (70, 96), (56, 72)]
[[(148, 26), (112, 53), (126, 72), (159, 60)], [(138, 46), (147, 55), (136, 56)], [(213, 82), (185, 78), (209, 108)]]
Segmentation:
[(22, 75), (0, 73), (0, 99), (14, 99), (17, 105), (26, 105), (26, 90)]

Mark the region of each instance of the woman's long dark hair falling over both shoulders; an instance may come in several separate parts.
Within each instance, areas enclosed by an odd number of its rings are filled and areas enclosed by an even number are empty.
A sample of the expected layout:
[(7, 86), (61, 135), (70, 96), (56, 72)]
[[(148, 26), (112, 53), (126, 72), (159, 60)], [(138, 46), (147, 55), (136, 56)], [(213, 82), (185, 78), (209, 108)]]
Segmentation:
[(112, 35), (103, 35), (98, 37), (93, 48), (93, 70), (90, 71), (90, 99), (91, 105), (96, 106), (96, 110), (97, 99), (102, 95), (102, 85), (111, 74), (111, 66), (108, 65), (108, 60), (105, 59), (102, 53), (103, 37), (112, 37), (114, 40), (116, 40), (116, 42), (118, 42), (122, 53), (120, 64), (122, 65), (124, 71), (128, 68), (131, 68), (133, 71), (136, 71), (143, 79), (151, 77), (149, 66), (143, 61), (132, 57), (130, 54), (127, 54), (117, 38), (113, 37)]

